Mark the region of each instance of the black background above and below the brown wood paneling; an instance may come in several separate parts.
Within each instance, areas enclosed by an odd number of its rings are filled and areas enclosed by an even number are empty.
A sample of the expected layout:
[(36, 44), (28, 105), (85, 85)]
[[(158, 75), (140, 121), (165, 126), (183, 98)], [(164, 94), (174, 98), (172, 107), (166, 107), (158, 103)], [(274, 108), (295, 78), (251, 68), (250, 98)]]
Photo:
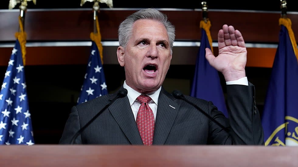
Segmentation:
[[(92, 8), (93, 3), (86, 2), (82, 7), (80, 0), (44, 1), (37, 4), (28, 2), (29, 9), (51, 8)], [(201, 1), (123, 1), (114, 0), (114, 8), (184, 8), (200, 9)], [(209, 9), (280, 11), (279, 0), (268, 1), (206, 1)], [(298, 11), (294, 0), (287, 1), (288, 11)], [(0, 1), (0, 9), (8, 9), (9, 0)], [(101, 8), (108, 8), (100, 4)], [(16, 9), (18, 6), (15, 7)], [(1, 24), (1, 23), (0, 23)], [(295, 31), (295, 30), (294, 30)], [(10, 41), (13, 42), (13, 41)], [(28, 41), (27, 41), (28, 42)], [(87, 62), (86, 62), (87, 63)], [(4, 77), (7, 66), (0, 66), (0, 80)], [(31, 113), (34, 139), (36, 144), (57, 144), (71, 107), (76, 105), (83, 83), (86, 65), (30, 65), (25, 66), (27, 96)], [(106, 85), (109, 93), (117, 90), (123, 83), (124, 70), (120, 65), (104, 64)], [(171, 65), (166, 80), (172, 87), (190, 87), (194, 75), (194, 65)], [(256, 85), (258, 108), (262, 115), (263, 101), (270, 78), (271, 68), (247, 67), (249, 81)], [(108, 75), (110, 74), (110, 75)], [(2, 76), (2, 77), (1, 77)], [(221, 76), (223, 90), (225, 81)], [(177, 80), (179, 82), (177, 82)], [(172, 88), (171, 88), (172, 89)], [(188, 88), (189, 89), (189, 88)]]

